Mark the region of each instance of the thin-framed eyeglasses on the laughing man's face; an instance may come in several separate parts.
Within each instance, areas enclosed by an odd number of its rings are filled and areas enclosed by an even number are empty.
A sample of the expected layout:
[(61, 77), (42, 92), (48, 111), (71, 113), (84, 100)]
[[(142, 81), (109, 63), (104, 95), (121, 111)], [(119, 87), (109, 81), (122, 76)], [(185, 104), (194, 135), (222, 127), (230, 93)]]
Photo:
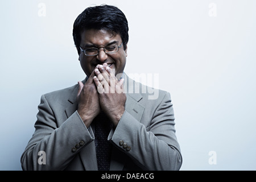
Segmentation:
[[(120, 47), (122, 47), (122, 44), (120, 46), (118, 46), (118, 44), (114, 44), (112, 46), (108, 46), (108, 47), (102, 47), (105, 53), (115, 53), (119, 50)], [(100, 51), (101, 48), (96, 48), (96, 47), (92, 47), (92, 48), (88, 48), (88, 49), (82, 49), (80, 47), (81, 51), (84, 52), (85, 56), (96, 56), (98, 55), (98, 52)]]

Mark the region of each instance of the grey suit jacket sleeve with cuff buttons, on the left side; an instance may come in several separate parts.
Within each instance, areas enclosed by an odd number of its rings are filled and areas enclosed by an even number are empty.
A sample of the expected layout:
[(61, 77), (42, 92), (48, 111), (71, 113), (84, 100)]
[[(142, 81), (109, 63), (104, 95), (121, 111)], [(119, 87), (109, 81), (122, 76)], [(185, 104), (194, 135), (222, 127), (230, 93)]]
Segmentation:
[(35, 133), (20, 159), (22, 169), (62, 170), (94, 139), (92, 129), (86, 128), (77, 111), (57, 127), (55, 115), (44, 95), (38, 109)]

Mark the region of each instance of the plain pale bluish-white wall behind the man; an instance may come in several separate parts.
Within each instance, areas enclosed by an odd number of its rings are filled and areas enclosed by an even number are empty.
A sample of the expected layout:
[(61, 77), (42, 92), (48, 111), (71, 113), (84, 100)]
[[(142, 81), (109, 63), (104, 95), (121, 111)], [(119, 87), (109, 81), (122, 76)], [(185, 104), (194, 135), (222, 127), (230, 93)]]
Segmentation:
[(73, 22), (102, 3), (128, 19), (125, 72), (171, 93), (181, 170), (255, 170), (253, 0), (1, 1), (0, 170), (22, 169), (40, 96), (84, 79)]

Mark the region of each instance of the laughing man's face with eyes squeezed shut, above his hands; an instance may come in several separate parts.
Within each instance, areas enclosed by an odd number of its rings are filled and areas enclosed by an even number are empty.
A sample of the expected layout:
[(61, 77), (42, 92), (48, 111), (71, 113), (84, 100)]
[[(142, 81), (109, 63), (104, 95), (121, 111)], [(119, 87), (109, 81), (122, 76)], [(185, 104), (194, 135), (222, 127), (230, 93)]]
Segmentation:
[(109, 47), (117, 44), (122, 44), (122, 38), (119, 34), (115, 36), (108, 30), (85, 30), (81, 32), (82, 49), (101, 48), (96, 56), (86, 56), (84, 52), (80, 51), (79, 60), (82, 69), (87, 76), (90, 76), (98, 64), (107, 63), (111, 69), (115, 70), (115, 75), (123, 73), (125, 69), (127, 47), (126, 50), (122, 47), (117, 52), (106, 54), (103, 47)]

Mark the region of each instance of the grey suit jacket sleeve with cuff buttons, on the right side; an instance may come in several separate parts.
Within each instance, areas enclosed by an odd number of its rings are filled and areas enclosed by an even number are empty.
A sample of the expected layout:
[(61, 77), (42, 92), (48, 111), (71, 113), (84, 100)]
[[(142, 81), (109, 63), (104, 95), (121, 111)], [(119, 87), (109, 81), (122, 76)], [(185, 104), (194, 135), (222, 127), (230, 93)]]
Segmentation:
[(150, 119), (151, 125), (146, 129), (125, 111), (109, 139), (145, 170), (179, 170), (182, 158), (175, 135), (170, 93), (165, 94)]

